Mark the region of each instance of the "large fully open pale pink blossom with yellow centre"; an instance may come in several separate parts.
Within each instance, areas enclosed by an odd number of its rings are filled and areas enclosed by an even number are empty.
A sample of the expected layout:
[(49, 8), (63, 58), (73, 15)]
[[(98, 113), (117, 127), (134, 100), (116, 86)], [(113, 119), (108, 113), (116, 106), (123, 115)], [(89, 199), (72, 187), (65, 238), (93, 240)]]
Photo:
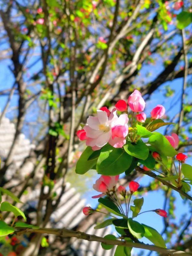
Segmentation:
[(128, 134), (127, 123), (127, 114), (117, 117), (116, 109), (113, 109), (109, 117), (106, 111), (97, 110), (97, 116), (89, 116), (84, 126), (88, 137), (86, 145), (91, 146), (93, 150), (98, 150), (107, 143), (115, 148), (122, 147)]

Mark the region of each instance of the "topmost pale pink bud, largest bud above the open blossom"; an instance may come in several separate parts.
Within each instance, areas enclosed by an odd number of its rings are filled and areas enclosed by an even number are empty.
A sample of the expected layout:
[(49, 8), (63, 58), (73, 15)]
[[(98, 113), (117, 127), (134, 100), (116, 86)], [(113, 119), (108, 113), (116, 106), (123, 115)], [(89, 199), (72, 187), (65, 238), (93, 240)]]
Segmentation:
[(138, 90), (129, 96), (128, 104), (133, 112), (142, 112), (145, 108), (145, 101)]

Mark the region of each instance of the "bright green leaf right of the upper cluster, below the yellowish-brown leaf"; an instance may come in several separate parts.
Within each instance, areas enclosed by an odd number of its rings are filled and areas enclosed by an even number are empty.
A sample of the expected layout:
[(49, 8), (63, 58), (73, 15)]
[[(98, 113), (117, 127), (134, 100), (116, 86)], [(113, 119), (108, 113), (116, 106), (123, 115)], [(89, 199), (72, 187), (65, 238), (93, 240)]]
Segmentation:
[(177, 151), (161, 133), (155, 132), (149, 137), (148, 143), (156, 148), (160, 154), (172, 157), (177, 154)]

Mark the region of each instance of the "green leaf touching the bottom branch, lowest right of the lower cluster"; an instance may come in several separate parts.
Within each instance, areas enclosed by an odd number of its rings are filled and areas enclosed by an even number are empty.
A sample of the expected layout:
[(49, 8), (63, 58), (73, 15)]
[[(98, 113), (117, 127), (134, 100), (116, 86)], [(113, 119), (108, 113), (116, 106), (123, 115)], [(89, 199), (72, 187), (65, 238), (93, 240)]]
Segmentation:
[(144, 236), (148, 240), (150, 240), (156, 246), (160, 246), (160, 247), (166, 248), (166, 244), (165, 244), (165, 241), (164, 241), (163, 237), (153, 227), (149, 227), (149, 226), (147, 226), (145, 224), (142, 224), (142, 225), (143, 225), (143, 227), (145, 229)]

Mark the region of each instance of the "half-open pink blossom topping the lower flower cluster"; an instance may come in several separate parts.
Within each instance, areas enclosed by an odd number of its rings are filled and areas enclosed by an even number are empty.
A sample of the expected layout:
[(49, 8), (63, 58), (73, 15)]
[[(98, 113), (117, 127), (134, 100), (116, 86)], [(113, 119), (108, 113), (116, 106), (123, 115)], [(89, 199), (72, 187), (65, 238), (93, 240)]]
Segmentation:
[(93, 184), (93, 188), (96, 191), (101, 192), (102, 194), (92, 196), (92, 198), (102, 197), (106, 193), (110, 191), (114, 191), (118, 179), (119, 179), (119, 175), (116, 175), (116, 176), (101, 175), (101, 177), (96, 180), (95, 184)]

